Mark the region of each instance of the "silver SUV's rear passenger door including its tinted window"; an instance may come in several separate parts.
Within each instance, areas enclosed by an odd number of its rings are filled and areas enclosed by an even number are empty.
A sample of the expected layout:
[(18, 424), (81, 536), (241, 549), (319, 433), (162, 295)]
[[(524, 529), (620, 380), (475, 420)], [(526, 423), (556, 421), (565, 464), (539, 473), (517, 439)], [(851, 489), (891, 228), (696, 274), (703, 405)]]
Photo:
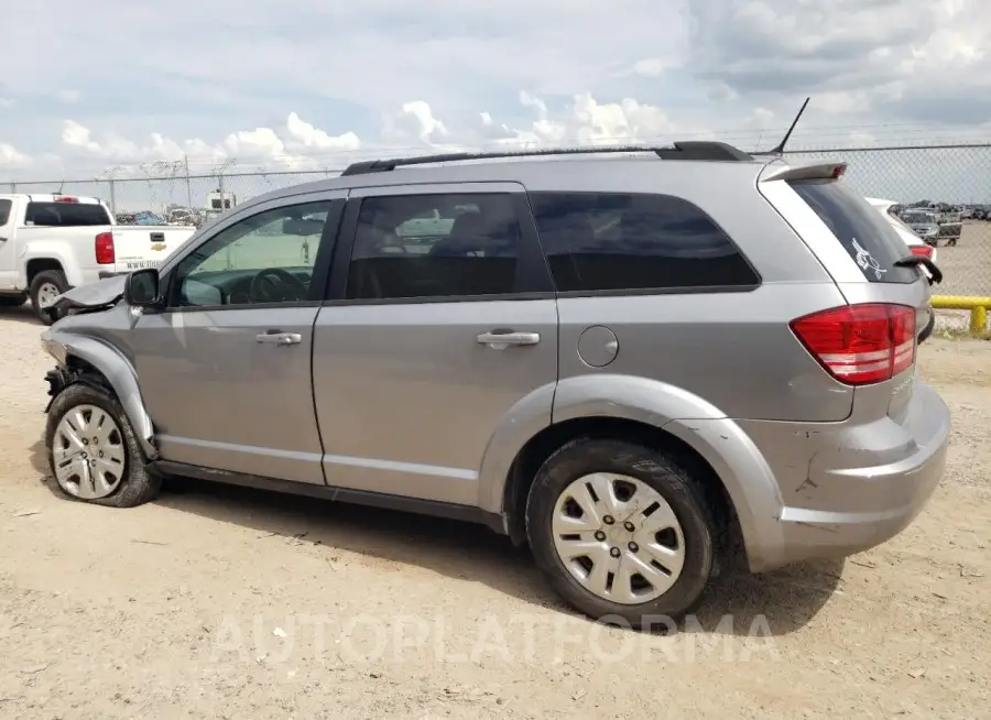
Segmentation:
[(328, 484), (476, 504), (514, 406), (551, 422), (557, 308), (523, 188), (469, 187), (351, 192), (314, 335)]

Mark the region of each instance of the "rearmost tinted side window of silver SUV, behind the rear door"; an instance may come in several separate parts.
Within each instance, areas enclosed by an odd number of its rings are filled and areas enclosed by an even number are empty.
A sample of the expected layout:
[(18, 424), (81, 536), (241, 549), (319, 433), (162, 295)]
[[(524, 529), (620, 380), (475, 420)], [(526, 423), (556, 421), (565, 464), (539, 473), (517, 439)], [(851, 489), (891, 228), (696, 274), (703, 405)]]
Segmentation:
[(558, 291), (754, 285), (739, 250), (699, 208), (667, 195), (533, 193)]

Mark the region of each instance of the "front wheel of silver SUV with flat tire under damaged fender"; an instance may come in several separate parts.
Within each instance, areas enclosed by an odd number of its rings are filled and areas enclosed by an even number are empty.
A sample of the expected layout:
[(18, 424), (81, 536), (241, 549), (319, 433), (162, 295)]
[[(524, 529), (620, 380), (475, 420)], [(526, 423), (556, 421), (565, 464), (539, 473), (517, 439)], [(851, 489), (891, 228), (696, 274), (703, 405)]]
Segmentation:
[(48, 467), (66, 495), (111, 508), (153, 500), (161, 478), (150, 474), (134, 430), (108, 391), (76, 383), (48, 408), (45, 427)]

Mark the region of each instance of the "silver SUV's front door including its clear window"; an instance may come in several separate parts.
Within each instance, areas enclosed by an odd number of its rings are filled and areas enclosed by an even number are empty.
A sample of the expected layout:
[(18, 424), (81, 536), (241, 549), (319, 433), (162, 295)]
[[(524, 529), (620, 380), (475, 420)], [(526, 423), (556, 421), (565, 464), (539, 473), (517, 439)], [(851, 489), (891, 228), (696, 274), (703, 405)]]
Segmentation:
[(244, 210), (164, 273), (167, 310), (133, 330), (163, 459), (324, 483), (311, 358), (337, 198)]

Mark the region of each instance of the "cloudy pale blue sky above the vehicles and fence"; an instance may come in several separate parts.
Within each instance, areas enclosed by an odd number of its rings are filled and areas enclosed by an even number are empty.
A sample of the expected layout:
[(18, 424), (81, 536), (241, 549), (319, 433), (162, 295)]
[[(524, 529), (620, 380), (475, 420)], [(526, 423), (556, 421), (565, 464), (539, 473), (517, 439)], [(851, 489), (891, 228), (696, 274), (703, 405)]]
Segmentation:
[[(806, 96), (796, 149), (991, 141), (987, 0), (32, 0), (2, 17), (0, 184), (448, 149), (750, 150)], [(980, 195), (965, 171), (991, 181), (988, 150), (913, 152), (856, 170), (955, 201)], [(930, 187), (903, 182), (934, 163)]]

